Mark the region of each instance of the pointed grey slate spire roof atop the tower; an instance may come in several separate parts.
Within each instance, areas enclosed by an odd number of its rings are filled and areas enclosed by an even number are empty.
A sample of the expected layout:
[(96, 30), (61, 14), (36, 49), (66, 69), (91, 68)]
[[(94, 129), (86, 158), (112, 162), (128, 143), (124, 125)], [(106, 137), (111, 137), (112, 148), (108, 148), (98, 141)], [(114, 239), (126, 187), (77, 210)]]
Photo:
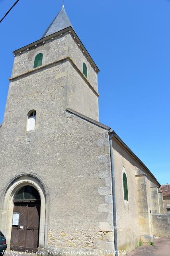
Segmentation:
[[(64, 28), (72, 27), (72, 24), (66, 14), (66, 11), (64, 9), (64, 4), (60, 10), (60, 12), (57, 14), (55, 19), (51, 22), (45, 33), (43, 34), (42, 38), (45, 36), (49, 36), (55, 32), (58, 32)], [(73, 28), (74, 29), (74, 28)]]

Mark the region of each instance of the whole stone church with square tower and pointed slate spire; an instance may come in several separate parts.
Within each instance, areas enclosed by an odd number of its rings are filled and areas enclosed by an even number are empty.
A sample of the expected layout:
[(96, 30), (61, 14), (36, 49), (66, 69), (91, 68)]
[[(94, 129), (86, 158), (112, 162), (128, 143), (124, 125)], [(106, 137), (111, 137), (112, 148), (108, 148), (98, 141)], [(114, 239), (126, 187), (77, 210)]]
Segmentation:
[(0, 127), (0, 230), (16, 251), (126, 250), (153, 239), (160, 184), (99, 122), (98, 66), (64, 6), (14, 51)]

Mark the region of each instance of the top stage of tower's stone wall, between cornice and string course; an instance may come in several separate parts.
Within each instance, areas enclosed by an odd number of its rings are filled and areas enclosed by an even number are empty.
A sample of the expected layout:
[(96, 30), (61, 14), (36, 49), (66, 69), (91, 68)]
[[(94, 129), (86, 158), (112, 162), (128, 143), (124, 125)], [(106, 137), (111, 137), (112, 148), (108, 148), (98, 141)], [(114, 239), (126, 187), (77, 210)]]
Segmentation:
[(42, 65), (47, 65), (57, 60), (70, 57), (79, 70), (83, 73), (83, 62), (88, 68), (88, 81), (98, 91), (97, 73), (92, 68), (85, 54), (82, 52), (72, 35), (68, 32), (63, 36), (57, 36), (53, 40), (47, 40), (45, 43), (38, 44), (21, 54), (17, 54), (14, 59), (12, 77), (18, 76), (33, 69), (34, 59), (38, 53), (43, 53)]

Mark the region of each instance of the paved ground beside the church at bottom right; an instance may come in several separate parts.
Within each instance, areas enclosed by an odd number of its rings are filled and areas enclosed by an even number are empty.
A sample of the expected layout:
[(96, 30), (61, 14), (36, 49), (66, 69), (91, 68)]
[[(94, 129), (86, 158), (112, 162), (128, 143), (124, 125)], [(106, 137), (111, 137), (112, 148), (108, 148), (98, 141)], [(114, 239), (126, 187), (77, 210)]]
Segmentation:
[(154, 243), (154, 246), (140, 246), (127, 256), (170, 256), (170, 237), (155, 238)]

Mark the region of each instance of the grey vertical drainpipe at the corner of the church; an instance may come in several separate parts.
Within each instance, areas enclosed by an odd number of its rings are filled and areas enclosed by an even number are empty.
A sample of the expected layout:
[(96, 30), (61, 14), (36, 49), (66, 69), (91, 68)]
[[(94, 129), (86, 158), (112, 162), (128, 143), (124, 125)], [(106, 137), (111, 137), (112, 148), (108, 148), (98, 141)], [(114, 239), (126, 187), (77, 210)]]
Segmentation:
[(109, 130), (109, 146), (110, 146), (110, 160), (111, 160), (111, 183), (112, 183), (112, 200), (113, 200), (113, 228), (114, 228), (114, 244), (115, 244), (115, 255), (118, 256), (117, 248), (117, 226), (116, 226), (116, 198), (115, 198), (115, 173), (113, 166), (113, 147), (112, 138), (114, 136), (113, 130)]

